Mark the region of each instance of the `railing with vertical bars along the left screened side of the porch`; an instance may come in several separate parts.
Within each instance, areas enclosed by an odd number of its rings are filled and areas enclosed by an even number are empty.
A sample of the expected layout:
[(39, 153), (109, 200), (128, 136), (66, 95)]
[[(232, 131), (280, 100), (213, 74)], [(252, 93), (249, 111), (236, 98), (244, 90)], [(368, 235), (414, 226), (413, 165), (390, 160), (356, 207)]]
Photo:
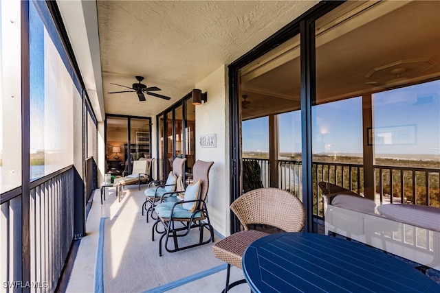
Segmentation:
[[(0, 281), (5, 292), (23, 286), (31, 292), (54, 292), (74, 239), (74, 168), (35, 180), (30, 188), (30, 268), (21, 257), (27, 230), (21, 189), (1, 201)], [(22, 270), (30, 270), (29, 283), (23, 281)]]

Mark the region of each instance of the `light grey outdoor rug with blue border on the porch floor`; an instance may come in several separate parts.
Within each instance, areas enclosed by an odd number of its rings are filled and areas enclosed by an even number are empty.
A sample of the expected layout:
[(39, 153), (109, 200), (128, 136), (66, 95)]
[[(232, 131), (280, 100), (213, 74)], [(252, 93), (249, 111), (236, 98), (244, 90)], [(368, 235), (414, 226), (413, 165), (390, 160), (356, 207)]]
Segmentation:
[[(118, 213), (100, 220), (95, 291), (144, 292), (224, 264), (214, 257), (212, 242), (176, 253), (163, 249), (159, 257), (160, 235), (156, 233), (151, 241), (155, 221), (146, 223), (141, 215), (144, 192), (129, 192), (121, 202), (115, 200), (114, 204), (121, 204)], [(197, 242), (199, 231), (193, 230), (179, 238), (179, 246)]]

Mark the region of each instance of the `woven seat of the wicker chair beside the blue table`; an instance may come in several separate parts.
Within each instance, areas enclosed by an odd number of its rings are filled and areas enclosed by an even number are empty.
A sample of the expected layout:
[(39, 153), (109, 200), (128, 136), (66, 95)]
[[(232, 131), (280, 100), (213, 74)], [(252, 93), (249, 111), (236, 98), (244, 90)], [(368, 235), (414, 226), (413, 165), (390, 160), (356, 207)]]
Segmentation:
[(241, 259), (246, 248), (256, 239), (267, 235), (270, 234), (256, 230), (240, 231), (215, 243), (212, 246), (212, 250), (214, 250), (214, 256), (217, 257), (217, 259), (221, 259), (222, 261), (232, 264), (232, 266), (241, 268)]

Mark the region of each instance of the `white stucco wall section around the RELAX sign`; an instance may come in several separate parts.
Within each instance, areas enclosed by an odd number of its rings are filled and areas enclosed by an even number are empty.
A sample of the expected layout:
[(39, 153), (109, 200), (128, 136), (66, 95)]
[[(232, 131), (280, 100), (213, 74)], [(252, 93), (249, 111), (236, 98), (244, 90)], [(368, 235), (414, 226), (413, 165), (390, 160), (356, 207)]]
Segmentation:
[[(229, 235), (229, 102), (228, 68), (223, 65), (195, 85), (208, 93), (208, 102), (196, 106), (196, 159), (213, 161), (210, 170), (208, 213), (214, 229)], [(223, 110), (222, 110), (223, 109)], [(217, 135), (217, 147), (201, 148), (200, 136)]]

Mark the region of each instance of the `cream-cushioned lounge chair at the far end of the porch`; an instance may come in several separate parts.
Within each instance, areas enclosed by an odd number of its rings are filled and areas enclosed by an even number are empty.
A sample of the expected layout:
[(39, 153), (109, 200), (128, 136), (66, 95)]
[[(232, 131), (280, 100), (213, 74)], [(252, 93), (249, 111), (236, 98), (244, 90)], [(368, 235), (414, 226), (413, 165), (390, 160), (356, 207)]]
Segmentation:
[[(137, 161), (133, 161), (133, 170), (131, 174), (117, 178), (115, 179), (113, 185), (115, 187), (118, 187), (118, 189), (121, 189), (124, 185), (132, 185), (137, 183), (140, 185), (141, 183), (149, 183), (153, 181), (153, 178), (151, 178), (151, 165), (153, 165), (153, 161), (155, 159), (139, 159)], [(120, 191), (120, 190), (119, 190)]]

